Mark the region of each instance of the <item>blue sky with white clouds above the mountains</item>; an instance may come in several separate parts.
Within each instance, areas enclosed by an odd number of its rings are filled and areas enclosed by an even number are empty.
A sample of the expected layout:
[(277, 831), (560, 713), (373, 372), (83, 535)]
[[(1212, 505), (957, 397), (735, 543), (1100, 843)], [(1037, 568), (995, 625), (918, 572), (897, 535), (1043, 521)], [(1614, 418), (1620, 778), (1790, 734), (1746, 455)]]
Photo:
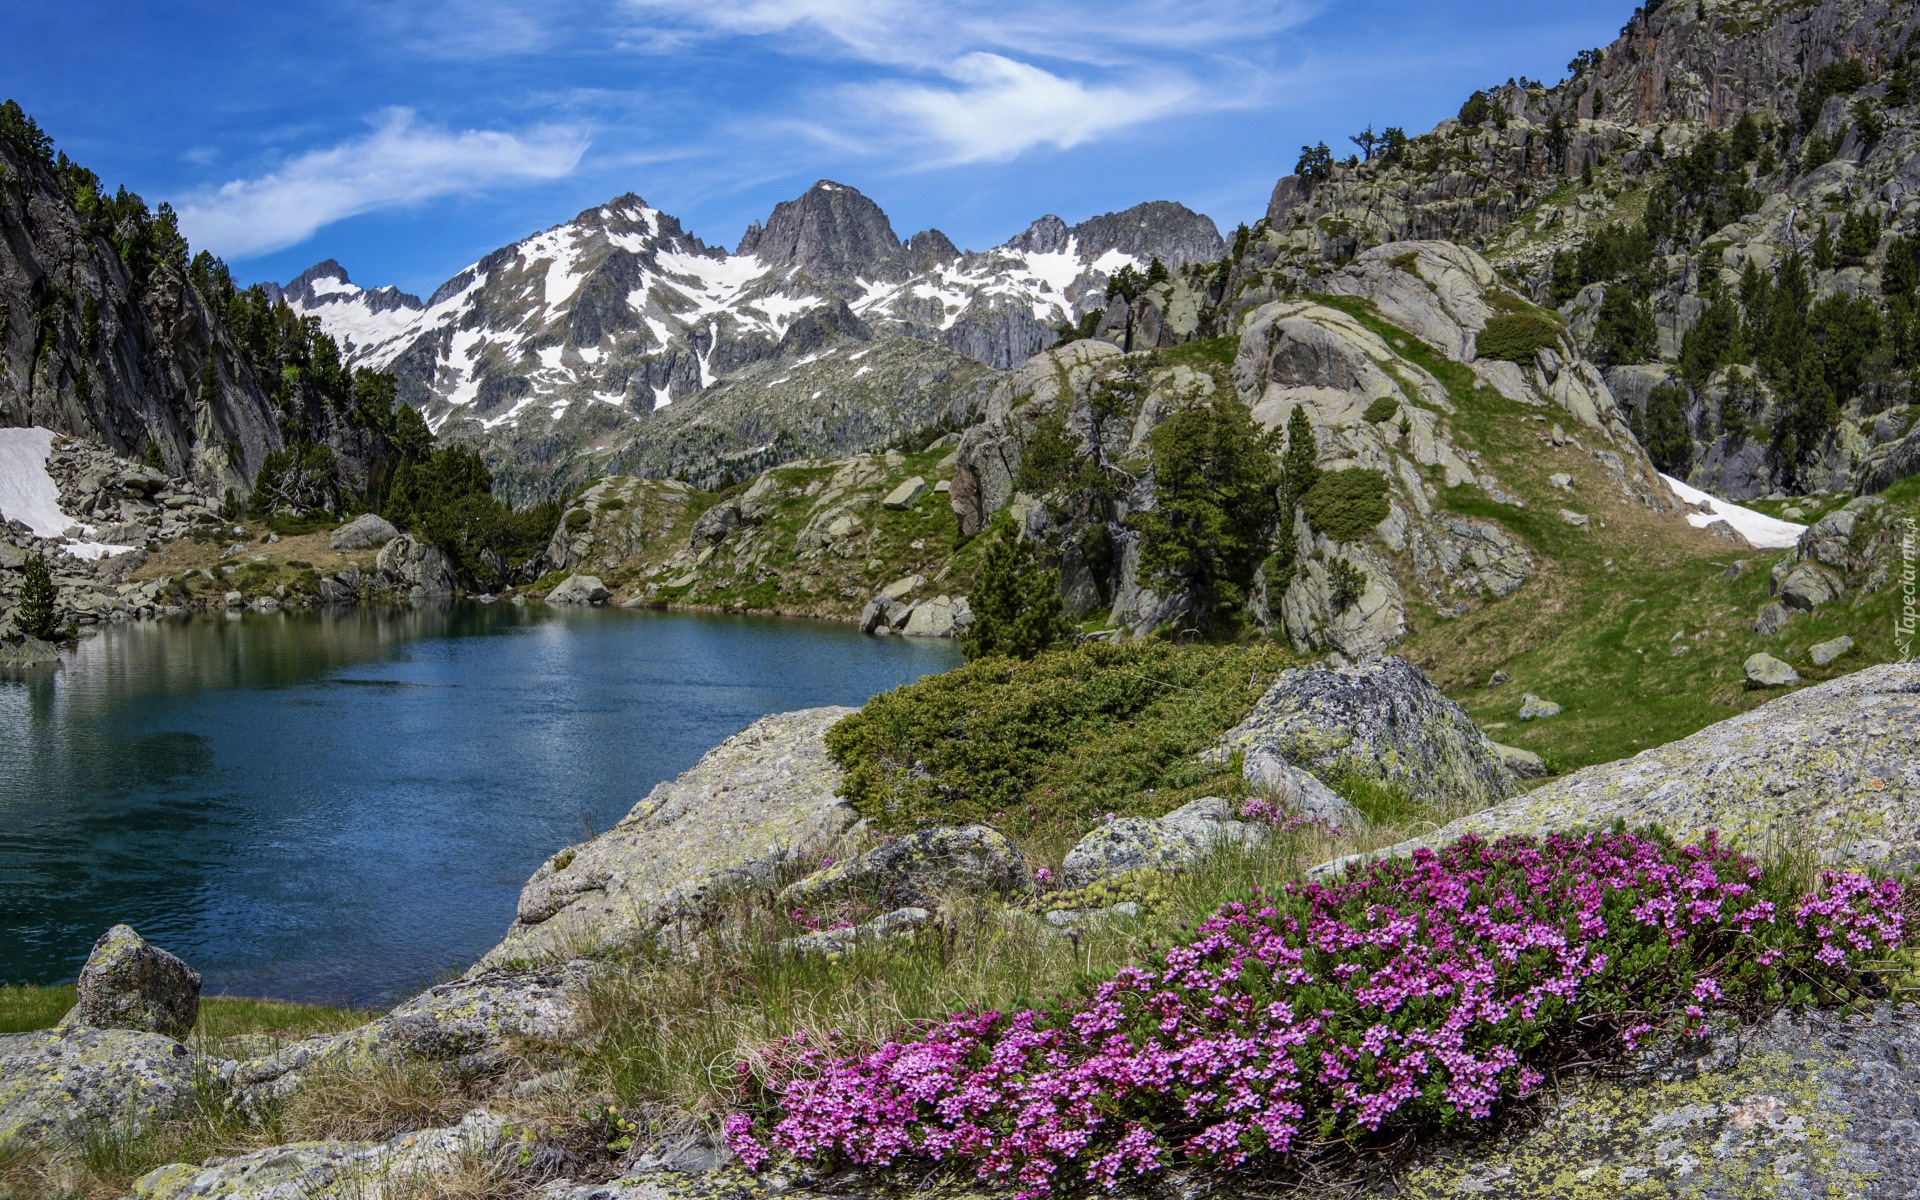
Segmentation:
[(1179, 200), (1231, 230), (1302, 142), (1557, 81), (1628, 0), (8, 0), (0, 90), (240, 280), (426, 294), (622, 192), (708, 244), (816, 179), (902, 238)]

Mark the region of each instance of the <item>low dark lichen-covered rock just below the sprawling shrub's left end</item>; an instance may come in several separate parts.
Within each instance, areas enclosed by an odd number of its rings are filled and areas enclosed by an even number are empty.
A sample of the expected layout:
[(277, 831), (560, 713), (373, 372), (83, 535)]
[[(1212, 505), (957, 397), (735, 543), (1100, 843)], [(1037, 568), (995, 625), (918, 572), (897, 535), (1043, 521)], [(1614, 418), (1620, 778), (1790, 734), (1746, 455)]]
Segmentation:
[(1004, 833), (987, 826), (937, 826), (818, 870), (780, 899), (812, 904), (835, 895), (872, 895), (889, 908), (939, 908), (954, 893), (1004, 897), (1025, 885), (1020, 851)]

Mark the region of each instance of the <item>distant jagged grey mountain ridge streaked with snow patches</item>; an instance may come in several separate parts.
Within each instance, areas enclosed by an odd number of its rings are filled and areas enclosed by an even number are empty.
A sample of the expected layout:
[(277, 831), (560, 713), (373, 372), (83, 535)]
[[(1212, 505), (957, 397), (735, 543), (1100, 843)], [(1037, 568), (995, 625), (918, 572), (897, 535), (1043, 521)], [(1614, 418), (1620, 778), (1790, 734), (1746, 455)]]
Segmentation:
[[(1187, 267), (1221, 250), (1210, 219), (1154, 202), (1075, 227), (1043, 217), (1004, 246), (962, 253), (939, 230), (902, 242), (870, 198), (820, 180), (749, 227), (733, 253), (628, 194), (490, 253), (426, 301), (363, 290), (332, 259), (275, 294), (317, 317), (351, 365), (392, 371), (436, 430), (488, 447), (520, 480), (516, 493), (551, 495), (564, 490), (559, 474), (578, 472), (545, 465), (576, 453), (612, 461), (626, 444), (637, 447), (630, 461), (718, 476), (718, 463), (649, 453), (641, 430), (751, 369), (774, 380), (837, 344), (885, 342), (904, 342), (885, 357), (912, 361), (916, 378), (972, 374), (960, 359), (1006, 369), (1052, 344), (1058, 324), (1102, 309), (1114, 271), (1144, 271), (1154, 257)], [(797, 380), (768, 390), (755, 415), (762, 426), (818, 399), (820, 382)], [(797, 444), (804, 453), (877, 449), (966, 419), (889, 420), (889, 411), (924, 409), (914, 399), (924, 394), (906, 386), (866, 405), (887, 426), (876, 444)], [(787, 432), (797, 434), (791, 420)], [(524, 442), (540, 445), (538, 461), (518, 457), (513, 444)], [(764, 438), (733, 442), (732, 451), (749, 451)]]

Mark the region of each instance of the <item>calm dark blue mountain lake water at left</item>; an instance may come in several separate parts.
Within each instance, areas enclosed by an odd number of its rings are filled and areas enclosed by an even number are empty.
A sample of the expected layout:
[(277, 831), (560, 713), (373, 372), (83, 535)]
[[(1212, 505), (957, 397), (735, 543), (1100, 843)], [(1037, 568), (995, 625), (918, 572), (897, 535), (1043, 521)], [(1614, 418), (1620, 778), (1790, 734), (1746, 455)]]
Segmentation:
[(540, 605), (109, 626), (0, 676), (0, 981), (127, 922), (209, 995), (392, 1000), (758, 716), (958, 662), (851, 626)]

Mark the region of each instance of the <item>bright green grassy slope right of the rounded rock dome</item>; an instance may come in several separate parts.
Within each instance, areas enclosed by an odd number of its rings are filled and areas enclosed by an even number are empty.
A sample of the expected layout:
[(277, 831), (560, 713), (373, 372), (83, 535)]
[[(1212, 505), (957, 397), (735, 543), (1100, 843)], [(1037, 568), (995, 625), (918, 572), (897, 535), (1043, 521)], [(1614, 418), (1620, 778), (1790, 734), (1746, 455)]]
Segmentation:
[[(1549, 756), (1563, 770), (1609, 762), (1780, 695), (1747, 685), (1741, 664), (1757, 651), (1791, 662), (1807, 684), (1893, 655), (1897, 591), (1882, 589), (1862, 601), (1849, 595), (1795, 618), (1774, 637), (1761, 637), (1753, 616), (1770, 599), (1768, 574), (1793, 551), (1738, 549), (1684, 518), (1628, 501), (1594, 457), (1574, 445), (1553, 447), (1546, 438), (1559, 422), (1588, 449), (1609, 449), (1599, 434), (1559, 409), (1534, 409), (1475, 386), (1471, 371), (1444, 361), (1363, 303), (1323, 300), (1354, 313), (1438, 376), (1459, 407), (1450, 419), (1455, 442), (1480, 451), (1500, 484), (1526, 501), (1515, 509), (1471, 486), (1440, 490), (1440, 507), (1496, 520), (1519, 536), (1532, 549), (1538, 574), (1511, 595), (1471, 601), (1465, 616), (1411, 603), (1409, 636), (1400, 647), (1498, 741)], [(1571, 474), (1572, 492), (1555, 490), (1548, 482), (1553, 472)], [(1907, 480), (1887, 492), (1887, 501), (1910, 511), (1916, 495), (1920, 480)], [(1803, 499), (1803, 520), (1843, 503), (1845, 497)], [(1784, 507), (1770, 505), (1776, 513)], [(1561, 522), (1561, 509), (1586, 513), (1592, 526)], [(1728, 578), (1736, 561), (1745, 561), (1745, 568)], [(1824, 668), (1805, 657), (1807, 647), (1841, 634), (1853, 636), (1853, 653)], [(1680, 645), (1688, 649), (1676, 655)], [(1496, 670), (1509, 680), (1486, 687)], [(1526, 691), (1559, 703), (1565, 712), (1521, 724)]]

